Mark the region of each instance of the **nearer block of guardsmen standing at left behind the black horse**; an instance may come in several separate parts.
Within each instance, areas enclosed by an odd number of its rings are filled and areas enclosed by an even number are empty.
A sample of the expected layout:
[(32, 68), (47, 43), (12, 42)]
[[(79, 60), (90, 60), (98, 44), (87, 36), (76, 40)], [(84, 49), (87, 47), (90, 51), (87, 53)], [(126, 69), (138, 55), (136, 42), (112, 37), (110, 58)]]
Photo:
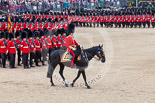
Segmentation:
[[(66, 38), (66, 30), (58, 29), (55, 33), (47, 28), (44, 30), (31, 31), (25, 28), (15, 33), (9, 33), (7, 29), (0, 33), (0, 58), (1, 65), (6, 68), (6, 60), (9, 61), (11, 69), (16, 68), (15, 58), (17, 54), (18, 66), (30, 68), (34, 66), (46, 65), (47, 55), (51, 51), (62, 47)], [(35, 64), (35, 65), (34, 65)]]

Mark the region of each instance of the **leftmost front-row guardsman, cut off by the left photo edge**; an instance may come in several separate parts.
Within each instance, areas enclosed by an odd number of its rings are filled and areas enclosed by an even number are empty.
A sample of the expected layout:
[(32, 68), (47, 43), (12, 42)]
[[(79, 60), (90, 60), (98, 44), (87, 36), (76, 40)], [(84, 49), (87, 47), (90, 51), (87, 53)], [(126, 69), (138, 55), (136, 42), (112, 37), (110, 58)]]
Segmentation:
[(6, 68), (6, 47), (7, 47), (7, 43), (5, 41), (3, 32), (0, 34), (0, 38), (1, 38), (1, 41), (0, 41), (0, 55), (1, 55), (1, 58), (2, 58), (2, 67)]

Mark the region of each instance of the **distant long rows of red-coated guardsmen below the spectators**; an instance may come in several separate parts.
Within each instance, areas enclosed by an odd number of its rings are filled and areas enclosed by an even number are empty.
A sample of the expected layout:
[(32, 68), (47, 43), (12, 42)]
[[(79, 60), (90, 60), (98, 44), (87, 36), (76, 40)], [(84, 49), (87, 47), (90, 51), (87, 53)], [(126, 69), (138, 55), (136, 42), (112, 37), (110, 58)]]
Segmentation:
[[(76, 26), (88, 27), (155, 27), (154, 11), (145, 9), (120, 9), (120, 10), (84, 10), (82, 12), (25, 12), (20, 15), (12, 15), (12, 30), (38, 30), (55, 27), (67, 28), (71, 21)], [(58, 23), (58, 21), (61, 21)], [(0, 19), (0, 30), (7, 28), (7, 16)]]

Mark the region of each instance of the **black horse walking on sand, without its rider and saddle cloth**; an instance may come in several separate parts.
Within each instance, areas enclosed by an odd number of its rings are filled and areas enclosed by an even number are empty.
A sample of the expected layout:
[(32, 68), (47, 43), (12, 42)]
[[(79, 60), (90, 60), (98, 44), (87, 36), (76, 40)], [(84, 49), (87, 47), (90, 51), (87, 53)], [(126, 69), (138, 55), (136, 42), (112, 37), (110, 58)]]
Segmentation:
[[(77, 77), (71, 83), (72, 87), (74, 86), (75, 81), (80, 77), (80, 75), (82, 73), (83, 79), (85, 81), (85, 86), (88, 89), (90, 89), (90, 86), (88, 85), (87, 80), (86, 80), (85, 68), (88, 66), (88, 61), (90, 61), (95, 55), (99, 58), (99, 60), (101, 60), (102, 63), (105, 62), (103, 45), (102, 46), (99, 45), (99, 46), (95, 46), (95, 47), (92, 47), (89, 49), (82, 50), (81, 60), (76, 62), (76, 65), (77, 65), (77, 68), (79, 69), (79, 71), (78, 71)], [(52, 75), (53, 75), (53, 72), (58, 64), (60, 66), (59, 74), (62, 77), (62, 79), (65, 83), (65, 86), (68, 87), (65, 77), (63, 76), (64, 67), (68, 66), (68, 65), (65, 65), (64, 63), (61, 62), (59, 50), (55, 50), (54, 52), (52, 52), (50, 54), (47, 77), (51, 79), (50, 80), (51, 86), (55, 86), (53, 83)]]

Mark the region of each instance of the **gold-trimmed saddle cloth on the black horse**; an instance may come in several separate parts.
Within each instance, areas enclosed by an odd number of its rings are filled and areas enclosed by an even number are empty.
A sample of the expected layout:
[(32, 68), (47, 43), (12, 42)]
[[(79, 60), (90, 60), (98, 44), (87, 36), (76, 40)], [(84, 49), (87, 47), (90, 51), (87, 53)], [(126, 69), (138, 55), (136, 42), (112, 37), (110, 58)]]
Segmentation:
[[(68, 52), (68, 50), (60, 50), (60, 59), (61, 62), (71, 62), (72, 61), (72, 54)], [(78, 56), (77, 61), (81, 60), (81, 55)]]

